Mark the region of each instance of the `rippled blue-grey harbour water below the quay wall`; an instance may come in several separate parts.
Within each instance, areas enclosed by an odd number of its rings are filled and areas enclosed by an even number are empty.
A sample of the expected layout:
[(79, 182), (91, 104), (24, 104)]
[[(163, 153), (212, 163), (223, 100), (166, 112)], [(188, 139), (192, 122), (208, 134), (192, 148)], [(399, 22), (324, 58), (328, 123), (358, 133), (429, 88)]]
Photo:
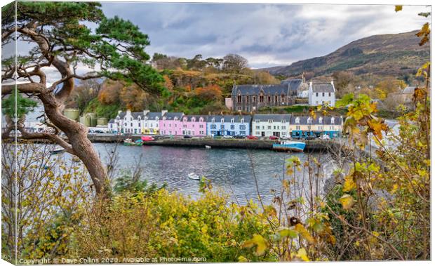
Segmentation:
[[(333, 172), (330, 154), (285, 153), (266, 149), (206, 149), (200, 147), (123, 146), (95, 143), (103, 161), (116, 149), (116, 168), (134, 168), (142, 157), (142, 178), (149, 184), (163, 185), (193, 198), (199, 197), (199, 181), (188, 178), (189, 173), (205, 176), (214, 189), (222, 189), (233, 200), (244, 203), (257, 199), (255, 177), (262, 199), (272, 199), (271, 190), (279, 191), (278, 176), (285, 173), (285, 161), (295, 155), (302, 163), (308, 156), (320, 158), (321, 171), (326, 178)], [(252, 160), (251, 160), (252, 159)], [(302, 173), (300, 173), (302, 175)], [(287, 177), (288, 178), (288, 177)]]

